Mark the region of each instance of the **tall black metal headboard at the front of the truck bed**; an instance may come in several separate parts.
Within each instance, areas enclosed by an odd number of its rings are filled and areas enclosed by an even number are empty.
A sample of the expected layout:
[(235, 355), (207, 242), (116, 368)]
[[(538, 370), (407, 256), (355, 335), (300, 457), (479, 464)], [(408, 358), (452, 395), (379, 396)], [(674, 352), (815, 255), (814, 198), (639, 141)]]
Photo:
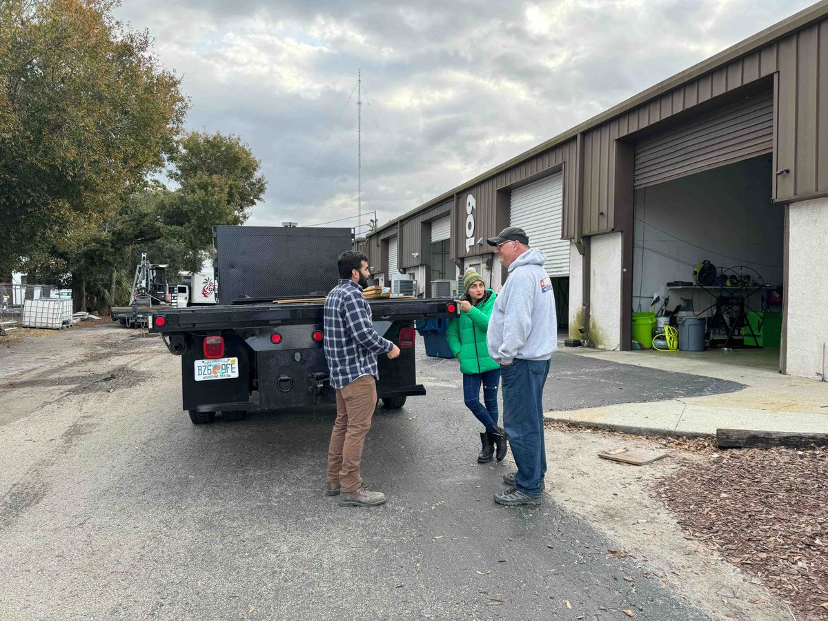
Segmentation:
[(336, 286), (336, 259), (353, 246), (341, 227), (216, 226), (219, 304), (239, 297), (325, 296)]

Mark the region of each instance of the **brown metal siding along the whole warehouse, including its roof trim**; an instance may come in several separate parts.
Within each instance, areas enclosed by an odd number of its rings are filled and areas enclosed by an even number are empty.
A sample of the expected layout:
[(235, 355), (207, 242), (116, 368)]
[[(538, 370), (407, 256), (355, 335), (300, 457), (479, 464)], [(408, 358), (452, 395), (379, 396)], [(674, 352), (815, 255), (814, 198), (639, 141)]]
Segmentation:
[[(723, 94), (736, 97), (736, 89), (749, 88), (749, 85), (771, 75), (776, 75), (777, 79), (774, 115), (776, 167), (791, 170), (790, 174), (777, 177), (774, 198), (784, 202), (828, 192), (828, 20), (824, 5), (820, 2), (809, 7), (748, 41), (532, 148), (522, 156), (504, 162), (489, 173), (469, 181), (474, 183), (470, 190), (465, 186), (451, 190), (463, 196), (453, 224), (465, 224), (465, 195), (469, 191), (478, 199), (479, 208), (482, 206), (484, 210), (484, 223), (493, 223), (491, 211), (493, 204), (498, 202), (494, 193), (509, 183), (543, 171), (550, 161), (575, 162), (575, 137), (580, 133), (584, 150), (580, 171), (583, 206), (577, 217), (580, 217), (581, 233), (590, 235), (620, 229), (623, 224), (615, 218), (613, 200), (615, 138), (652, 128), (655, 123), (670, 123), (667, 119), (676, 114), (682, 115), (681, 123), (686, 116), (694, 114), (695, 106), (705, 102), (710, 102), (708, 105), (715, 103), (711, 99)], [(797, 28), (800, 30), (797, 31)], [(614, 123), (617, 123), (617, 134)], [(653, 131), (659, 129), (652, 128)], [(558, 156), (550, 157), (556, 152)], [(567, 238), (575, 238), (578, 234), (575, 225), (578, 168), (565, 167), (563, 234)], [(484, 195), (488, 198), (481, 201)], [(445, 200), (446, 196), (440, 197), (440, 201)], [(488, 205), (487, 201), (492, 205)], [(503, 215), (500, 217), (502, 221)], [(465, 252), (459, 253), (459, 240), (465, 238), (465, 234), (460, 229), (455, 230), (458, 231), (455, 234), (458, 240), (455, 256), (464, 256)], [(475, 237), (488, 236), (491, 232), (488, 229), (475, 231)]]

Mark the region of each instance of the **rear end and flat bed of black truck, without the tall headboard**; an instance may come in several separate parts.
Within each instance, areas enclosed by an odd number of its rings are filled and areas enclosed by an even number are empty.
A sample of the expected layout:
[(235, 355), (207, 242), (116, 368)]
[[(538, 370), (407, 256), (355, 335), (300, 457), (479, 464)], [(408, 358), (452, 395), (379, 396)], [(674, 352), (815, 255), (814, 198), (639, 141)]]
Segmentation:
[[(399, 408), (407, 397), (426, 394), (416, 381), (414, 322), (456, 316), (455, 302), (390, 298), (368, 303), (375, 330), (400, 348), (397, 359), (378, 356), (377, 383), (383, 406)], [(213, 421), (216, 412), (238, 418), (243, 412), (335, 403), (323, 348), (323, 306), (309, 301), (159, 309), (150, 331), (181, 356), (182, 406), (200, 424)], [(214, 358), (208, 355), (211, 347)], [(214, 379), (204, 379), (210, 365), (224, 368)]]

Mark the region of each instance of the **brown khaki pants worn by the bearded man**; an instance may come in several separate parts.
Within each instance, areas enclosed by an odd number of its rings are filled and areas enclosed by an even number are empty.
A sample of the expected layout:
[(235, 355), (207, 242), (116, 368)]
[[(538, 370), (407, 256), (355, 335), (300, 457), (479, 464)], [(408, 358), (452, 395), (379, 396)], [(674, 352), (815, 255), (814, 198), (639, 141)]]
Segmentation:
[(339, 481), (345, 493), (354, 493), (362, 484), (359, 462), (375, 407), (377, 381), (373, 375), (356, 378), (336, 391), (336, 422), (328, 447), (328, 482)]

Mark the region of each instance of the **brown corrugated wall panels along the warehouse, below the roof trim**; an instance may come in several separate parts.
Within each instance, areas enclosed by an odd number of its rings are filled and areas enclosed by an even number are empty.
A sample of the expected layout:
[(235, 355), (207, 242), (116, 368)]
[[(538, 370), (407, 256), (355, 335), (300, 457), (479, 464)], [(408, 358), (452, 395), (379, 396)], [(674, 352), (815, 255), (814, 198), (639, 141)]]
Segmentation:
[[(756, 86), (753, 92), (746, 93), (755, 94), (772, 86), (774, 81), (777, 99), (774, 168), (790, 170), (790, 173), (775, 177), (774, 199), (787, 202), (828, 193), (828, 20), (822, 17), (816, 24), (749, 51), (709, 73), (688, 79), (681, 86), (626, 109), (604, 123), (585, 128), (582, 134), (582, 234), (605, 233), (628, 226), (628, 223), (616, 222), (615, 213), (618, 200), (615, 176), (619, 170), (616, 166), (619, 142), (616, 141), (619, 138), (634, 140), (649, 130), (661, 131), (673, 121), (683, 123), (696, 115), (697, 110), (705, 106), (712, 108), (715, 98), (720, 95), (726, 96), (722, 99), (731, 97), (730, 101), (723, 103), (729, 104), (738, 99), (743, 90)], [(540, 176), (546, 169), (564, 163), (562, 234), (565, 238), (575, 238), (578, 233), (575, 218), (578, 194), (575, 144), (573, 136), (537, 155), (527, 156), (526, 160), (507, 171), (493, 173), (489, 179), (462, 190), (452, 223), (457, 232), (454, 233), (453, 256), (468, 256), (463, 231), (466, 196), (469, 193), (476, 200), (478, 215), (475, 221), (480, 223), (474, 231), (475, 241), (480, 237), (491, 237), (498, 233), (499, 226), (504, 225), (503, 202), (498, 199), (498, 193), (527, 179), (535, 181), (532, 176)], [(625, 185), (621, 189), (623, 194)], [(431, 209), (434, 208), (429, 207), (426, 211)], [(411, 220), (411, 228), (406, 228), (403, 244), (407, 249), (407, 258), (411, 258), (412, 252), (418, 252), (408, 248), (417, 248), (421, 243), (421, 223), (413, 225), (414, 219), (427, 218), (416, 215)], [(409, 234), (412, 235), (410, 240)], [(482, 252), (485, 252), (484, 248), (475, 247), (468, 254)]]

